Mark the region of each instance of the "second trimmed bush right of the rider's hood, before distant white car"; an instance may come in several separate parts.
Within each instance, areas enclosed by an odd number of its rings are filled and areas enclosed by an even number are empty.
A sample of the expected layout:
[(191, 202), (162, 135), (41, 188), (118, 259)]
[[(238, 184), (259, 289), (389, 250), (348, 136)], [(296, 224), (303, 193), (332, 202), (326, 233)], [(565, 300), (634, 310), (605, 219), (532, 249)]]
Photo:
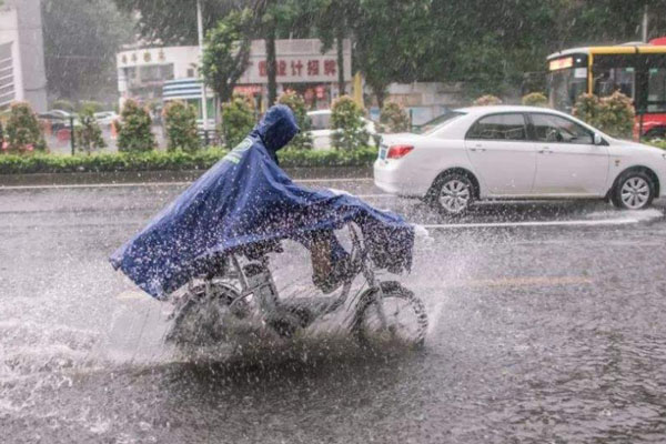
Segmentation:
[(365, 130), (363, 109), (349, 95), (337, 98), (331, 108), (332, 143), (336, 150), (356, 150), (366, 147), (370, 134)]

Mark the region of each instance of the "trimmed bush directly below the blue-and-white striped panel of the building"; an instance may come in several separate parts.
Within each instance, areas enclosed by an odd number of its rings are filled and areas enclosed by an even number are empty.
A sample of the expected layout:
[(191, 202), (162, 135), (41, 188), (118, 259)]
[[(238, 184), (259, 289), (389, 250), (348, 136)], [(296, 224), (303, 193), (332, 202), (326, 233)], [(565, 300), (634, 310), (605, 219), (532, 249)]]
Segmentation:
[(164, 111), (164, 125), (167, 129), (168, 149), (196, 151), (199, 149), (199, 133), (196, 130), (196, 110), (182, 100), (167, 103)]

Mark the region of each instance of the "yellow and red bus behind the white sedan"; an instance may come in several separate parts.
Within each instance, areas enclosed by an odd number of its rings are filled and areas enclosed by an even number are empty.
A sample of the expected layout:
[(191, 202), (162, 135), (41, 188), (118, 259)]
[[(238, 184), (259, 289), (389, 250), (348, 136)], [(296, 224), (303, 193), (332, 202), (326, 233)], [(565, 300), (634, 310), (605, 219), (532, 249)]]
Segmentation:
[(551, 54), (547, 85), (549, 105), (568, 113), (583, 93), (603, 98), (620, 91), (636, 109), (634, 138), (666, 138), (666, 37)]

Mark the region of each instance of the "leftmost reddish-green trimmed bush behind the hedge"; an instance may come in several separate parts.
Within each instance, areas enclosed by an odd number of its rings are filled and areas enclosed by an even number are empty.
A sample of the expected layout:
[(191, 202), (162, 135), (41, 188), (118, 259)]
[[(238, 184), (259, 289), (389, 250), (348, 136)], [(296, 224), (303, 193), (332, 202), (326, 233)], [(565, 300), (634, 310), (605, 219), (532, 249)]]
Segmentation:
[(46, 151), (41, 123), (29, 103), (12, 103), (7, 120), (7, 142), (12, 152)]

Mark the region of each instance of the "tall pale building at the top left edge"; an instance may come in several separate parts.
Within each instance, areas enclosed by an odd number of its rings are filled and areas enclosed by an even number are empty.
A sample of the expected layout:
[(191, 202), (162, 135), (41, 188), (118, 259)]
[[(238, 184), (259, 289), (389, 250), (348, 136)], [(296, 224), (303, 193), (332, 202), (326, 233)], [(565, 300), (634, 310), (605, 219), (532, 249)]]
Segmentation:
[(0, 7), (0, 110), (13, 101), (47, 111), (40, 0), (4, 0)]

